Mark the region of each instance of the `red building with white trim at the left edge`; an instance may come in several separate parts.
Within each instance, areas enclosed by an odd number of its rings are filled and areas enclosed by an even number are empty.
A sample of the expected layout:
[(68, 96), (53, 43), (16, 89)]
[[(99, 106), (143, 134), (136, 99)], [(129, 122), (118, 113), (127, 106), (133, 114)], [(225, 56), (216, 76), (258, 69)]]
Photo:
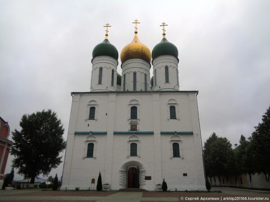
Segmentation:
[(4, 172), (7, 164), (9, 148), (13, 144), (8, 140), (9, 126), (8, 123), (0, 117), (0, 187), (3, 184)]

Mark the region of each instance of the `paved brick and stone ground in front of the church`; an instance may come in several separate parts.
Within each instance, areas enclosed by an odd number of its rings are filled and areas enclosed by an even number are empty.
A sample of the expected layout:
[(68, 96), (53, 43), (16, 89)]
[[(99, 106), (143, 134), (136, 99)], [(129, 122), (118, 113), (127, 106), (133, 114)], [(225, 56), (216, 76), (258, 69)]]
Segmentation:
[[(270, 192), (214, 187), (223, 193), (189, 192), (118, 192), (118, 191), (41, 191), (39, 189), (0, 191), (0, 202), (154, 202), (154, 201), (232, 201), (232, 197), (244, 197), (235, 201), (270, 201)], [(244, 193), (245, 192), (245, 193)], [(231, 197), (231, 198), (229, 198)], [(256, 200), (255, 197), (266, 197)], [(196, 198), (196, 199), (195, 199)], [(254, 199), (254, 200), (252, 200)]]

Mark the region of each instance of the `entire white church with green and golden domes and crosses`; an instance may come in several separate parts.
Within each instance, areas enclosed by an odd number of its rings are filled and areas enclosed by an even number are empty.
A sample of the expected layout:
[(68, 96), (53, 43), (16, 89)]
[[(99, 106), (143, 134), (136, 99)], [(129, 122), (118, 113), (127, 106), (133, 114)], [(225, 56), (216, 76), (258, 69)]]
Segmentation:
[(178, 49), (164, 27), (151, 54), (135, 23), (120, 55), (122, 75), (106, 32), (92, 52), (90, 92), (71, 93), (61, 190), (88, 190), (99, 172), (110, 190), (154, 191), (163, 179), (168, 190), (205, 190), (198, 91), (179, 91)]

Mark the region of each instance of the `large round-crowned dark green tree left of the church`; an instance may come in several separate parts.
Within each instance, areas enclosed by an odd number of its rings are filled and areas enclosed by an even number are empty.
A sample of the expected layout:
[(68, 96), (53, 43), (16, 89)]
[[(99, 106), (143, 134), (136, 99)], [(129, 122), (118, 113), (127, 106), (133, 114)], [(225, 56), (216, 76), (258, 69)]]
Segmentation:
[(14, 155), (14, 168), (31, 178), (32, 187), (36, 176), (48, 175), (62, 162), (59, 153), (66, 147), (64, 129), (52, 110), (24, 114), (20, 127), (21, 131), (12, 132), (14, 144), (10, 153)]

